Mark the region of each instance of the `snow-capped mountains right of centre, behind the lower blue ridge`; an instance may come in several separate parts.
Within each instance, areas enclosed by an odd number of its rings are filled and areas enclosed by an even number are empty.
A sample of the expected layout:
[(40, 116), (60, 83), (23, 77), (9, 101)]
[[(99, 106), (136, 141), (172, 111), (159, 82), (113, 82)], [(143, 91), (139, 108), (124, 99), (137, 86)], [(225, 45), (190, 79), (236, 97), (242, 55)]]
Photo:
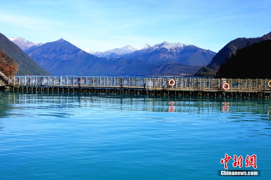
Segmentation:
[(127, 59), (140, 59), (149, 62), (179, 62), (192, 66), (204, 66), (211, 62), (215, 52), (198, 48), (194, 45), (182, 43), (168, 43), (150, 45), (146, 44), (140, 50), (134, 46), (126, 45), (123, 48), (114, 48), (105, 52), (95, 52), (89, 48), (84, 49), (87, 53), (98, 57)]

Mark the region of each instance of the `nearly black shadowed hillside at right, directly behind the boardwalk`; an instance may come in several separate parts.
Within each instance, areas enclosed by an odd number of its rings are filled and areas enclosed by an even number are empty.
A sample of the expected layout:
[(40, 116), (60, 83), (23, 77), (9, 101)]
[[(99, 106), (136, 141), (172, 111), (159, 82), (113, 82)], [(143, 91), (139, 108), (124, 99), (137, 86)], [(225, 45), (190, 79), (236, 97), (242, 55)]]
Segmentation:
[(271, 40), (254, 43), (237, 50), (225, 64), (221, 64), (218, 75), (228, 78), (271, 78)]

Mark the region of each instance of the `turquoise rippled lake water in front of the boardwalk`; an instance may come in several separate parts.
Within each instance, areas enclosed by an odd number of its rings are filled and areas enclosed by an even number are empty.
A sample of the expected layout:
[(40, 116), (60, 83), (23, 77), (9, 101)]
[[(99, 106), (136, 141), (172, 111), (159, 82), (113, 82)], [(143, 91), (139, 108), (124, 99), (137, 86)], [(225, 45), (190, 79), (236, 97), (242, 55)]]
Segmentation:
[[(261, 177), (218, 177), (226, 153)], [(0, 91), (3, 180), (271, 179), (270, 159), (267, 98)]]

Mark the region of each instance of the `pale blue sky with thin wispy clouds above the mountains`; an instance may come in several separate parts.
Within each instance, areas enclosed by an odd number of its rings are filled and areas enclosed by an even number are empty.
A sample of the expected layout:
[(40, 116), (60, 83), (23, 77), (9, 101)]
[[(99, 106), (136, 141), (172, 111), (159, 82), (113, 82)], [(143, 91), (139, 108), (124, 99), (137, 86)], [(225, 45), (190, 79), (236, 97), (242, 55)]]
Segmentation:
[(271, 31), (271, 1), (0, 0), (0, 33), (34, 42), (63, 38), (81, 49), (193, 44), (218, 52), (237, 37)]

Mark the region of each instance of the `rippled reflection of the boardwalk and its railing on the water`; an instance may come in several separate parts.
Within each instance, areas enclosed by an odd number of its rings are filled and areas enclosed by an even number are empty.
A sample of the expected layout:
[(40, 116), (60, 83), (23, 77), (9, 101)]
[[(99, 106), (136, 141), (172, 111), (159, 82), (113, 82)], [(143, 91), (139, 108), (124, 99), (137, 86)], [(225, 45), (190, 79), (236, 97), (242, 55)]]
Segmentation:
[[(114, 110), (140, 110), (151, 112), (219, 113), (246, 112), (271, 114), (270, 99), (261, 98), (199, 98), (178, 96), (110, 95), (98, 93), (9, 93), (0, 92), (9, 104), (52, 103), (60, 107), (103, 107)], [(270, 119), (271, 120), (271, 119)]]

